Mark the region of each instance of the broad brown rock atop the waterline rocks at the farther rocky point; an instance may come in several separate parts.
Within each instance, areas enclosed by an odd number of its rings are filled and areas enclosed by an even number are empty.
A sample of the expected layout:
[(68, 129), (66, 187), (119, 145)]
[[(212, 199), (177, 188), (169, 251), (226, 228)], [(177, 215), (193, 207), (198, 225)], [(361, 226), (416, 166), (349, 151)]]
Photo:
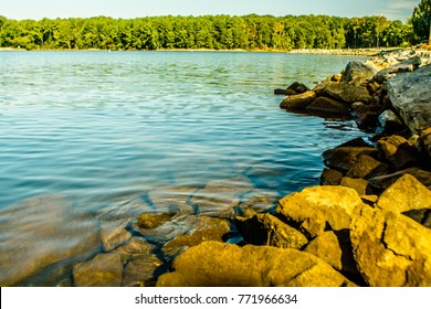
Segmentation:
[(355, 86), (348, 83), (327, 83), (320, 95), (334, 98), (339, 102), (355, 103), (371, 100), (371, 96), (366, 87)]

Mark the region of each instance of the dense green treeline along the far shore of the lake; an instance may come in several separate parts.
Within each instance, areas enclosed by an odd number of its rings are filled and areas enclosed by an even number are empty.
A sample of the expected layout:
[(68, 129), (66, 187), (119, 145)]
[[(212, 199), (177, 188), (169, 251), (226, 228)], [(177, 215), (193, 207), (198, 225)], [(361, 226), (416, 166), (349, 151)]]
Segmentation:
[(0, 17), (0, 47), (25, 50), (281, 50), (409, 46), (411, 23), (385, 17), (203, 15), (11, 20)]

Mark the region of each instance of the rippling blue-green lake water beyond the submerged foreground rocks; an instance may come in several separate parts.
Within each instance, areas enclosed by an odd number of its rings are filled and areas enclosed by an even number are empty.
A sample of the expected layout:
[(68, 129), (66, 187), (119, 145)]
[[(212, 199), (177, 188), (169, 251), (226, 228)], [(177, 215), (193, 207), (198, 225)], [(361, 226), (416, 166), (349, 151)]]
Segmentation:
[(351, 121), (285, 113), (273, 89), (312, 87), (351, 58), (2, 52), (0, 222), (20, 220), (15, 205), (50, 194), (97, 214), (136, 201), (156, 211), (150, 196), (160, 188), (235, 179), (282, 196), (318, 184), (320, 153), (362, 134)]

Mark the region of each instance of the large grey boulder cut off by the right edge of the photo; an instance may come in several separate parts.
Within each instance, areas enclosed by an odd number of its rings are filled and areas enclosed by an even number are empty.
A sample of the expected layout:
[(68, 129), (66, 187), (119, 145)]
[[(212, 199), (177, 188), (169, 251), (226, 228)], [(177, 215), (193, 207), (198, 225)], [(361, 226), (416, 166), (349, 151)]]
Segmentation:
[(431, 65), (399, 74), (386, 83), (390, 102), (412, 132), (431, 127)]

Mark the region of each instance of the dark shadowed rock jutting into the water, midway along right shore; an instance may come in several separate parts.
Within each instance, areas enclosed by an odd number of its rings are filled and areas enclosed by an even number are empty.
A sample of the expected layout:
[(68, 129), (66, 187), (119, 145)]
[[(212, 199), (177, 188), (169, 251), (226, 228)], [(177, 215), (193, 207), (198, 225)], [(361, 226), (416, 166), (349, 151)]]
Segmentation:
[(337, 147), (334, 149), (326, 150), (322, 157), (325, 166), (347, 172), (356, 163), (360, 156), (377, 154), (377, 149), (372, 147)]

